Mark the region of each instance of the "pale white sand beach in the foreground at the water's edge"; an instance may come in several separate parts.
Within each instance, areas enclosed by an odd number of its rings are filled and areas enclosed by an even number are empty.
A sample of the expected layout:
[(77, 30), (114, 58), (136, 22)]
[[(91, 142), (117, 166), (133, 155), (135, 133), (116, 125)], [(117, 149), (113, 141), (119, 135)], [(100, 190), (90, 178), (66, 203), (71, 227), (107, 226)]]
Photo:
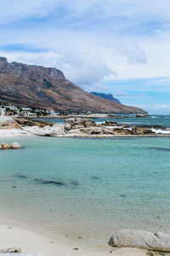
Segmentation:
[(45, 236), (37, 235), (28, 230), (22, 230), (6, 225), (0, 225), (0, 248), (20, 247), (22, 253), (42, 253), (42, 256), (144, 256), (146, 251), (135, 248), (82, 247), (69, 244), (68, 241), (51, 241)]

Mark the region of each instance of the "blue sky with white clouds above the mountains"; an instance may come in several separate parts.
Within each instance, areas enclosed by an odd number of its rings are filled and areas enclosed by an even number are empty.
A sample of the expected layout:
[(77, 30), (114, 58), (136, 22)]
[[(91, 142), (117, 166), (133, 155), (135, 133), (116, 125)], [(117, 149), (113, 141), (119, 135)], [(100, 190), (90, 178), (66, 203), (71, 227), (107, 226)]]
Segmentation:
[(0, 55), (170, 114), (169, 0), (0, 0)]

